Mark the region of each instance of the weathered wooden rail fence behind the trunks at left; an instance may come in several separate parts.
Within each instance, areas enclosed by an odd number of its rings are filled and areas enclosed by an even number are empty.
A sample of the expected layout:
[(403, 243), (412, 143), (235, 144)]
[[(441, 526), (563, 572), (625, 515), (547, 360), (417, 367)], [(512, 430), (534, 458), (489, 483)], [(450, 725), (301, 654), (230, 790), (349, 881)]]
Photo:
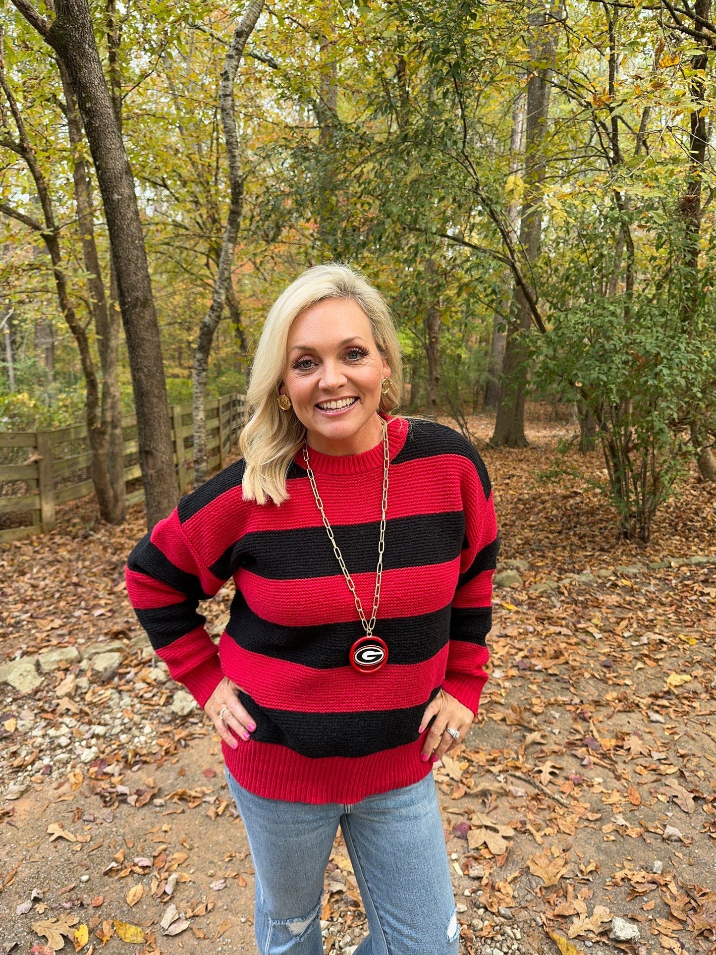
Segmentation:
[[(223, 467), (243, 427), (243, 395), (224, 394), (206, 402), (209, 471)], [(172, 443), (179, 493), (184, 494), (194, 468), (191, 402), (170, 407)], [(141, 476), (137, 415), (122, 418), (127, 504), (144, 499), (133, 484)], [(0, 434), (0, 542), (53, 530), (55, 509), (68, 500), (92, 494), (87, 425), (53, 431)]]

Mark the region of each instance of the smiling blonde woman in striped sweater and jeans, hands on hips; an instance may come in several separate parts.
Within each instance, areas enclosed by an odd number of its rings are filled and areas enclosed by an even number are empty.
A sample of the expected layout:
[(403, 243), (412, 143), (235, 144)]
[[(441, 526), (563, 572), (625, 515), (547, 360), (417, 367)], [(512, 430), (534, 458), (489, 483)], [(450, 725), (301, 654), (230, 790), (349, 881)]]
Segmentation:
[[(323, 952), (338, 825), (359, 955), (457, 952), (431, 770), (487, 679), (495, 512), (463, 437), (390, 415), (401, 383), (379, 293), (345, 265), (309, 269), (267, 316), (242, 460), (128, 563), (142, 626), (221, 734), (262, 955)], [(230, 577), (217, 651), (197, 605)]]

